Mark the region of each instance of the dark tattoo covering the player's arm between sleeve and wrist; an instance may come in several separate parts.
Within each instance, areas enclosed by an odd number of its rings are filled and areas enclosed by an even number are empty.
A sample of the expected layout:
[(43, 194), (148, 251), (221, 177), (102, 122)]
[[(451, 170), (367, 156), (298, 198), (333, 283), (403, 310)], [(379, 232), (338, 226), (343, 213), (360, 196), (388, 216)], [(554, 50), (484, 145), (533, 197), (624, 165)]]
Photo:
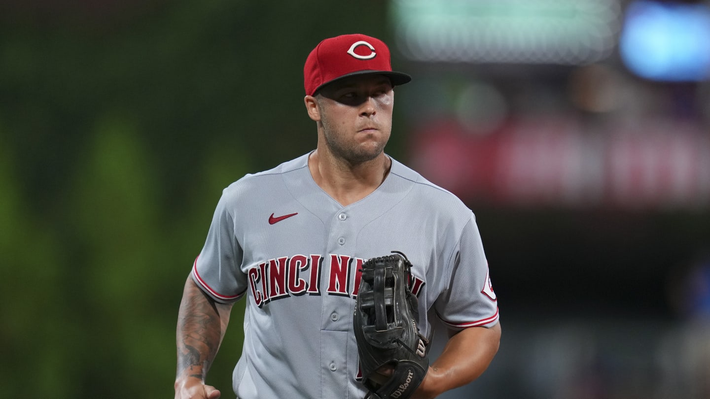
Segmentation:
[(178, 314), (177, 377), (204, 377), (212, 366), (224, 331), (214, 301), (188, 278)]

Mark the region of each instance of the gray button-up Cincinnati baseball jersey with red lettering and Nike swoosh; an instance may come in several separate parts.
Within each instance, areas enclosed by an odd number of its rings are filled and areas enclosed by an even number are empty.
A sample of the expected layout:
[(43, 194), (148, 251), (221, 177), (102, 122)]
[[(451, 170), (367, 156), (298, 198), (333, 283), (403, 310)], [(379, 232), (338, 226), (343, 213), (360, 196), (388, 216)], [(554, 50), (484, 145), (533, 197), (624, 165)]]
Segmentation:
[(371, 195), (342, 207), (308, 155), (246, 175), (222, 193), (192, 278), (214, 300), (246, 297), (240, 399), (363, 398), (352, 315), (362, 263), (402, 251), (413, 263), (422, 334), (498, 321), (474, 214), (392, 160)]

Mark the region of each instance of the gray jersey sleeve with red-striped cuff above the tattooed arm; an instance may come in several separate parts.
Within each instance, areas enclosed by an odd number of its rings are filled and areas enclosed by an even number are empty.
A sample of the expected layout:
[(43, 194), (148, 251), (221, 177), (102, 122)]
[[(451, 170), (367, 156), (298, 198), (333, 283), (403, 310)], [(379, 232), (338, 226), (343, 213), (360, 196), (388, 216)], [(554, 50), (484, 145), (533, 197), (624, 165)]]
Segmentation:
[(241, 271), (242, 250), (234, 234), (234, 216), (223, 193), (214, 210), (207, 240), (192, 266), (192, 279), (217, 302), (239, 300), (246, 293)]

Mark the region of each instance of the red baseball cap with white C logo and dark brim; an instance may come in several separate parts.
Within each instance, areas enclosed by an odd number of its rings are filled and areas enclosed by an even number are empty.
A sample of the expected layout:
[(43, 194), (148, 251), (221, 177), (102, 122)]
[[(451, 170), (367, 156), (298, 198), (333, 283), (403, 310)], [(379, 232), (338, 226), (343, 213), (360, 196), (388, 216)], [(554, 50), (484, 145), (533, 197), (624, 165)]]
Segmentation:
[(303, 67), (306, 94), (311, 96), (325, 84), (356, 75), (385, 75), (393, 86), (412, 80), (410, 75), (393, 72), (390, 49), (382, 40), (359, 33), (318, 43)]

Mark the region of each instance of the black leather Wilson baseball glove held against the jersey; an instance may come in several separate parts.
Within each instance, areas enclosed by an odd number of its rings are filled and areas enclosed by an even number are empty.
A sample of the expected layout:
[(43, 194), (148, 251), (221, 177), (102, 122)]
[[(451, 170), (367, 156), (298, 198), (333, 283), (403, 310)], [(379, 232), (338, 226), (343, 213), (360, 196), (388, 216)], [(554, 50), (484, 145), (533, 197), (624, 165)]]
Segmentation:
[[(353, 315), (367, 398), (410, 398), (429, 370), (428, 341), (417, 327), (417, 297), (410, 291), (412, 264), (392, 252), (363, 264)], [(378, 373), (385, 368), (389, 378)]]

